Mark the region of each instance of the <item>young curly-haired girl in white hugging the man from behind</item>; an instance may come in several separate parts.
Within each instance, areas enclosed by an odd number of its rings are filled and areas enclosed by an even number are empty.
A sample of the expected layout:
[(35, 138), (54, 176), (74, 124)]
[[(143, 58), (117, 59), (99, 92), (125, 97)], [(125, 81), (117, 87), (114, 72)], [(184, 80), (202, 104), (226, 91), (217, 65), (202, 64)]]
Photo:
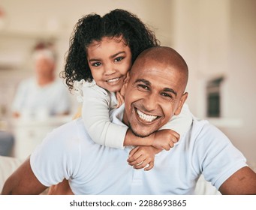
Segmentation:
[[(83, 121), (93, 141), (114, 148), (126, 145), (157, 148), (137, 147), (131, 151), (134, 161), (130, 159), (130, 164), (140, 169), (149, 163), (146, 170), (152, 169), (158, 149), (172, 148), (179, 135), (191, 125), (188, 107), (173, 116), (164, 130), (146, 137), (135, 136), (128, 127), (110, 122), (111, 110), (123, 102), (121, 89), (126, 74), (137, 55), (152, 46), (158, 46), (155, 34), (134, 14), (125, 10), (113, 10), (104, 17), (89, 14), (81, 18), (74, 29), (63, 72), (69, 89), (83, 101)], [(140, 118), (155, 119), (144, 113)]]

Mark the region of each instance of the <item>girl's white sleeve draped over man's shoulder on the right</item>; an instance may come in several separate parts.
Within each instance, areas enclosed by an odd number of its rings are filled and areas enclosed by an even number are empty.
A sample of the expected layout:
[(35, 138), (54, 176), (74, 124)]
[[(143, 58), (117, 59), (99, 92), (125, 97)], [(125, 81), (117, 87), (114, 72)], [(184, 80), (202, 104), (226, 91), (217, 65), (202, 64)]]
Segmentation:
[(167, 122), (161, 130), (163, 129), (171, 129), (179, 133), (179, 136), (183, 136), (185, 132), (188, 131), (189, 127), (192, 123), (193, 115), (188, 108), (188, 104), (184, 104), (182, 107), (182, 111), (179, 115), (173, 115), (170, 121)]

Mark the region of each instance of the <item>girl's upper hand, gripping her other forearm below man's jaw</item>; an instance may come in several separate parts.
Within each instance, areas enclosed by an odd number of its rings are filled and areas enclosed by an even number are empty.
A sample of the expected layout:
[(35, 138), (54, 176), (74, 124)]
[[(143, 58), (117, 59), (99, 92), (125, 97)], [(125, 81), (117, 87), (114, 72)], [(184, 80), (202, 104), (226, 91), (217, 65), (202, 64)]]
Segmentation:
[(158, 130), (152, 135), (154, 135), (152, 146), (155, 148), (170, 150), (179, 141), (179, 133), (170, 129)]

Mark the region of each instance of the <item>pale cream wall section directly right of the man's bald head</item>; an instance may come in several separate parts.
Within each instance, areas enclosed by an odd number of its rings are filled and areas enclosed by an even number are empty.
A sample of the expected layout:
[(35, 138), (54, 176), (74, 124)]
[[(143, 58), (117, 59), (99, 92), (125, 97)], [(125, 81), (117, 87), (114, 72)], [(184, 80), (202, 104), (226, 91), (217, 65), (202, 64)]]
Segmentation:
[(227, 74), (229, 1), (176, 0), (173, 46), (188, 63), (188, 104), (206, 116), (205, 81)]

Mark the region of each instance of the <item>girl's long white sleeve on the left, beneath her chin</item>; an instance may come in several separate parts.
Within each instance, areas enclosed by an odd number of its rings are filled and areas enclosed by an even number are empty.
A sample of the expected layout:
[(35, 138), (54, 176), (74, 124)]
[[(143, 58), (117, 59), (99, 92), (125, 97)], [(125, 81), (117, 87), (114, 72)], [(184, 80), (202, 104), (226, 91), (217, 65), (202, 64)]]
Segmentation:
[(94, 142), (124, 148), (128, 127), (110, 121), (110, 100), (110, 95), (98, 86), (83, 87), (83, 122)]

